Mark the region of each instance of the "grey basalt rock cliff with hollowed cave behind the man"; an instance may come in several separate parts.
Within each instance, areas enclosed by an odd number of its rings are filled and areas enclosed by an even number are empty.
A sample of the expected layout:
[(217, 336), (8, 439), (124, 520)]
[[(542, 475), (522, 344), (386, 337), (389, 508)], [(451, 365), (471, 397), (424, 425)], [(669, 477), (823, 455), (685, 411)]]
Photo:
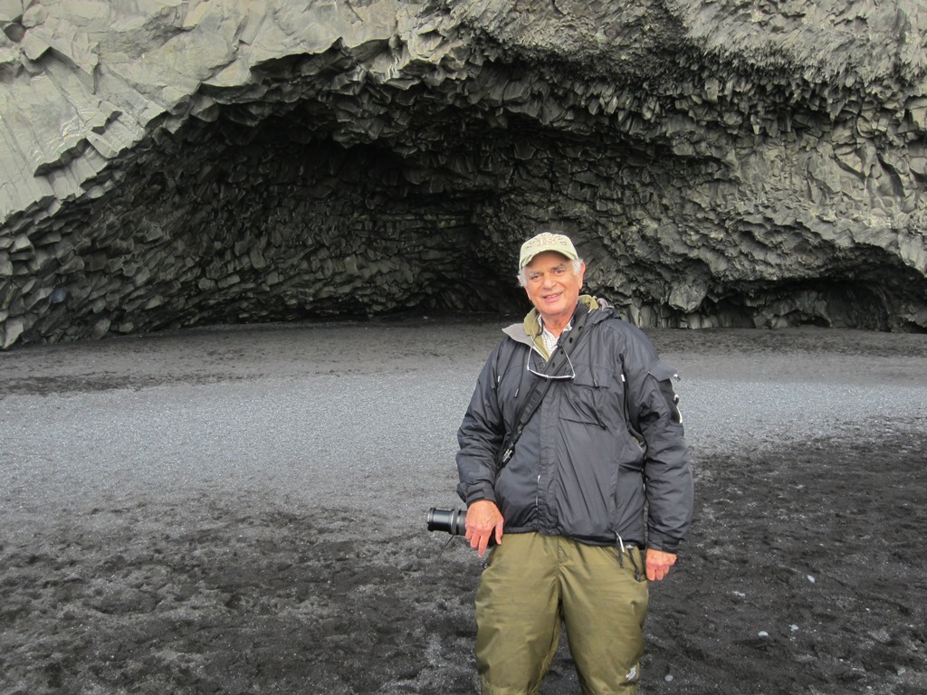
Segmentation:
[(515, 310), (927, 329), (917, 0), (0, 0), (0, 346)]

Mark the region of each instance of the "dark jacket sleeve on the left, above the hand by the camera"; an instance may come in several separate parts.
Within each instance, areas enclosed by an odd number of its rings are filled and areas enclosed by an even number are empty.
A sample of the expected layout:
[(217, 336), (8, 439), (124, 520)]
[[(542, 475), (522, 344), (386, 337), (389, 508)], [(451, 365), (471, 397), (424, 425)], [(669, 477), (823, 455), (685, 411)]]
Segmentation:
[(457, 494), (469, 506), (479, 499), (496, 500), (496, 454), (502, 448), (505, 425), (496, 398), (496, 361), (499, 347), (489, 356), (476, 381), (464, 422), (457, 432)]

